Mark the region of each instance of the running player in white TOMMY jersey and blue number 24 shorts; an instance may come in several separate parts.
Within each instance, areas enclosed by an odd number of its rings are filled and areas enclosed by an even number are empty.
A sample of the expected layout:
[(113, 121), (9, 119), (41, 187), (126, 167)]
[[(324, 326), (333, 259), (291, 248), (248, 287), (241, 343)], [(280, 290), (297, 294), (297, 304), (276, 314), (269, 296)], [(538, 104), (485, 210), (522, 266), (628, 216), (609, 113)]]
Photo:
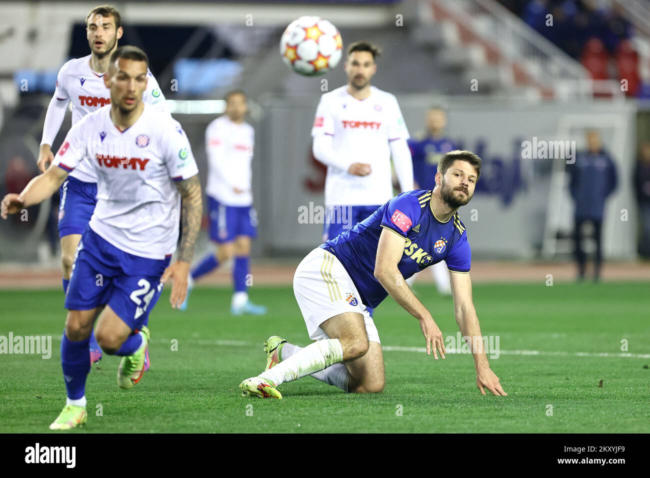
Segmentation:
[[(149, 346), (144, 324), (164, 282), (174, 281), (172, 307), (185, 299), (201, 225), (201, 185), (181, 126), (142, 102), (147, 66), (139, 48), (116, 49), (104, 76), (110, 105), (75, 123), (44, 174), (22, 193), (7, 194), (1, 204), (6, 219), (42, 202), (81, 161), (87, 160), (98, 176), (97, 206), (77, 248), (66, 295), (61, 363), (68, 401), (50, 425), (53, 430), (68, 430), (87, 420), (88, 342), (96, 319), (101, 349), (122, 356), (118, 385), (130, 389), (144, 372)], [(179, 213), (183, 240), (178, 260), (169, 265)]]

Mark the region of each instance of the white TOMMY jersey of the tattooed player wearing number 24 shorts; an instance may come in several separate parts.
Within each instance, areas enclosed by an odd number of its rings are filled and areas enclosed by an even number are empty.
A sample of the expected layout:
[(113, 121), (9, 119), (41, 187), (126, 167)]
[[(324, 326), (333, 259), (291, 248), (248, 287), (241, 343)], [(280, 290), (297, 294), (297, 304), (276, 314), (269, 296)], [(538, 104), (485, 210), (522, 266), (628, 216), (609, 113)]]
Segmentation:
[(53, 165), (72, 171), (86, 163), (97, 181), (90, 228), (124, 252), (164, 259), (176, 248), (181, 197), (174, 181), (198, 173), (181, 125), (144, 105), (120, 131), (110, 105), (86, 114), (68, 131)]

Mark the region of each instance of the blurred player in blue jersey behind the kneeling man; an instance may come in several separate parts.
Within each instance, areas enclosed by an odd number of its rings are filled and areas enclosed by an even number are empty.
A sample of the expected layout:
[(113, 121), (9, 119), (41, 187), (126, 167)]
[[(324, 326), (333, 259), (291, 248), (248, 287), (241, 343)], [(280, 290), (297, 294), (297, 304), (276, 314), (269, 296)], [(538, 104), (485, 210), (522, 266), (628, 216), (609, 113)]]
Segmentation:
[[(424, 118), (425, 131), (408, 140), (413, 158), (413, 181), (416, 189), (434, 189), (435, 173), (441, 157), (457, 150), (456, 144), (446, 135), (447, 113), (442, 107), (432, 106)], [(435, 287), (442, 295), (451, 295), (449, 270), (444, 261), (431, 267)], [(415, 274), (408, 284), (415, 282)]]

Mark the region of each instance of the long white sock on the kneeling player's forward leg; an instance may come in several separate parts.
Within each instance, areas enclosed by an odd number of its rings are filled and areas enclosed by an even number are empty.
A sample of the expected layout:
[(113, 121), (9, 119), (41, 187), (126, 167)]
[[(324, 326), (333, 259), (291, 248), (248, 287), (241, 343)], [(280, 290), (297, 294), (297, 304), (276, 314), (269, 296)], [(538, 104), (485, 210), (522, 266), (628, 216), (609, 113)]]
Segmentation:
[(305, 375), (312, 375), (339, 362), (343, 362), (343, 347), (339, 339), (318, 340), (300, 349), (272, 369), (265, 370), (259, 377), (279, 385), (282, 382), (298, 380)]

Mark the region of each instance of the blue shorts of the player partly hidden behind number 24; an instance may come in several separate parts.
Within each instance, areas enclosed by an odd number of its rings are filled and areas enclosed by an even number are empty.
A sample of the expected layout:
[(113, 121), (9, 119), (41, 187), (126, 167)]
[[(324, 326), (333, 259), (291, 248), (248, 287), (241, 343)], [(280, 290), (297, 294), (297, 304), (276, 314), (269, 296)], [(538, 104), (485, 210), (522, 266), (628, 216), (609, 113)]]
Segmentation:
[(97, 183), (68, 176), (59, 188), (59, 237), (83, 234), (97, 204)]

